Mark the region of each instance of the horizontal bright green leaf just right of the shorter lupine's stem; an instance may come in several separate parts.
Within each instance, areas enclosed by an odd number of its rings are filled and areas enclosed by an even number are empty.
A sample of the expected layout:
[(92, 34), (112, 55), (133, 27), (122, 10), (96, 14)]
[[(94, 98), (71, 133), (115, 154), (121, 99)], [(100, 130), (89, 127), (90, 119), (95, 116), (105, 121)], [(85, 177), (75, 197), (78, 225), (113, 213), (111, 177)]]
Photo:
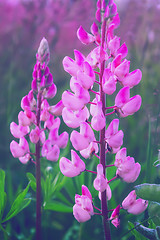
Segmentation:
[(44, 210), (52, 210), (56, 212), (64, 212), (64, 213), (71, 213), (73, 212), (73, 208), (69, 207), (63, 203), (53, 201), (50, 203), (45, 203), (44, 204)]

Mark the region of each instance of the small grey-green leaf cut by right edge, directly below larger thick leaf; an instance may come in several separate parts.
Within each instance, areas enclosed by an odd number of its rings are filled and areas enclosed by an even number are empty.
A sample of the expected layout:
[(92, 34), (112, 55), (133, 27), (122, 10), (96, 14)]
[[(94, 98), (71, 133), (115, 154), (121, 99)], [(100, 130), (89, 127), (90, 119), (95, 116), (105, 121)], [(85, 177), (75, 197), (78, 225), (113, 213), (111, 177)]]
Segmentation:
[(148, 207), (148, 212), (156, 226), (160, 226), (160, 203), (151, 202)]

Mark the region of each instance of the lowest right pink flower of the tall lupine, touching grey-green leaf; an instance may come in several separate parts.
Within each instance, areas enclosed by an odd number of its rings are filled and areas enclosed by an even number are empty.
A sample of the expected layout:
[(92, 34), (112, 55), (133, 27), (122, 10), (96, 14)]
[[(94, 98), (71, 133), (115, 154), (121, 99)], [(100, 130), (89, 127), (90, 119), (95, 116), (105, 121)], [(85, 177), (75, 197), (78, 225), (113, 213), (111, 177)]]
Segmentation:
[(128, 194), (128, 196), (123, 200), (122, 207), (126, 209), (128, 213), (138, 215), (146, 210), (148, 206), (148, 201), (141, 198), (136, 199), (136, 192), (133, 190)]

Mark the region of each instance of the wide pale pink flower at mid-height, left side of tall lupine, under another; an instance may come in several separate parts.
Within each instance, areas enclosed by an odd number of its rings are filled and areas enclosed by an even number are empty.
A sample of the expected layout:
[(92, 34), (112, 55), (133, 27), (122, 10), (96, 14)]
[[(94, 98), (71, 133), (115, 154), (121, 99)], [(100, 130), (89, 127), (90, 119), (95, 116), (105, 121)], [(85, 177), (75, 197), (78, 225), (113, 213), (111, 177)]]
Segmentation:
[(85, 122), (89, 118), (89, 111), (87, 107), (78, 111), (72, 111), (65, 107), (62, 111), (62, 117), (68, 127), (77, 128), (81, 122)]

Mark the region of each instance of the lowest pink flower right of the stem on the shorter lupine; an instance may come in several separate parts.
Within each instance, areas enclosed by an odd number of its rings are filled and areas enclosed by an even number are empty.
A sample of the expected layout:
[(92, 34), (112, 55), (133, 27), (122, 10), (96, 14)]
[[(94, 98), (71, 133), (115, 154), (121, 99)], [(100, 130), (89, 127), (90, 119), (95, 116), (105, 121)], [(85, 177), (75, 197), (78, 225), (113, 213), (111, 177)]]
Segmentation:
[(57, 145), (53, 145), (51, 140), (46, 140), (42, 146), (42, 157), (49, 161), (58, 161), (60, 150)]

